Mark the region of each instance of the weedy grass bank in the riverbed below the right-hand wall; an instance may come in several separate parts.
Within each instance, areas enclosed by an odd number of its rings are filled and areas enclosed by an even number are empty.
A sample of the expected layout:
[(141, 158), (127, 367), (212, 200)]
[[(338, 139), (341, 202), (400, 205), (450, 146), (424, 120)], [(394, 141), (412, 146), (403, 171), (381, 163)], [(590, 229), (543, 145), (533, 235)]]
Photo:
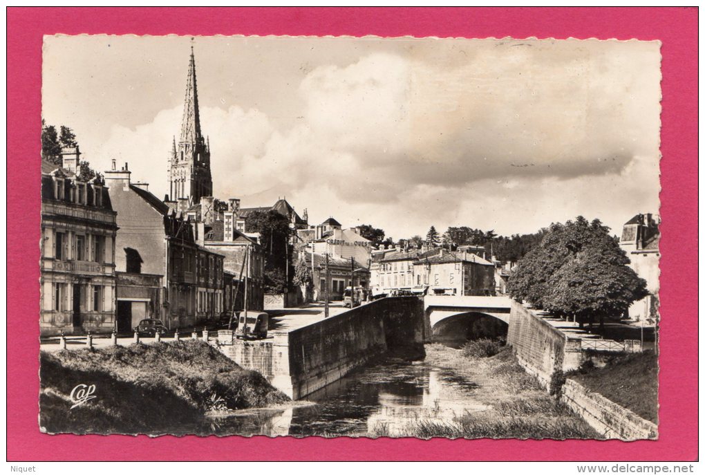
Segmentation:
[[(517, 364), (509, 347), (494, 356), (484, 350), (453, 350), (427, 345), (425, 362), (477, 383), (473, 398), (484, 409), (466, 410), (448, 421), (419, 418), (394, 436), (419, 438), (598, 438), (585, 421), (551, 397)], [(491, 350), (489, 353), (493, 353)], [(373, 436), (390, 435), (373, 433)]]

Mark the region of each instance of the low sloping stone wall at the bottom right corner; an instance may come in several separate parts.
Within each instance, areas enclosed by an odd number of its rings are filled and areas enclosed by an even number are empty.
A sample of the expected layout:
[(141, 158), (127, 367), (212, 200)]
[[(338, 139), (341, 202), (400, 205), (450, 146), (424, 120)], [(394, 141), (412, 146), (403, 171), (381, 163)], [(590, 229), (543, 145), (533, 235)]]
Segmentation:
[(658, 426), (637, 416), (572, 379), (565, 381), (560, 400), (606, 438), (639, 440), (658, 438)]

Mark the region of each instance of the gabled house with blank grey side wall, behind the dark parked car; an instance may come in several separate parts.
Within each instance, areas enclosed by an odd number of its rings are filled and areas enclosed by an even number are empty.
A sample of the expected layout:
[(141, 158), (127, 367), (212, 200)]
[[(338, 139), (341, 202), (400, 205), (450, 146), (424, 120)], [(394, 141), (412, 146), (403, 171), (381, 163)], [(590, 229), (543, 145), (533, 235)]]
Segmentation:
[[(223, 311), (223, 256), (197, 245), (188, 218), (152, 195), (146, 183), (130, 183), (130, 173), (128, 164), (117, 170), (114, 161), (105, 172), (118, 212), (118, 327), (142, 318), (161, 319), (168, 328), (216, 321)], [(157, 292), (140, 291), (156, 282)]]

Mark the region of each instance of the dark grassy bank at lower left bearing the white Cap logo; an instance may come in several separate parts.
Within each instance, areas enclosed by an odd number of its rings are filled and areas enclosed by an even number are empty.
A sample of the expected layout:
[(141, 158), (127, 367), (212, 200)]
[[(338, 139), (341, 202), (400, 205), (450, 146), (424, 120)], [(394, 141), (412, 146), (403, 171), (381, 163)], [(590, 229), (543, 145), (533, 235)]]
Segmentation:
[[(200, 341), (42, 352), (39, 425), (49, 433), (199, 433), (204, 413), (288, 400)], [(70, 409), (76, 385), (94, 399)]]

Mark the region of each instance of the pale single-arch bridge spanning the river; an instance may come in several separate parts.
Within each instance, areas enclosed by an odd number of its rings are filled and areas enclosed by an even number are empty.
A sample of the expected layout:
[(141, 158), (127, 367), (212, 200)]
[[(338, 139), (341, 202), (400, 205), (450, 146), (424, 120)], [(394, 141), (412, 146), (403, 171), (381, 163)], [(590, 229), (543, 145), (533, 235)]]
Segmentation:
[(431, 340), (467, 340), (505, 335), (511, 309), (509, 297), (427, 295), (424, 309)]

